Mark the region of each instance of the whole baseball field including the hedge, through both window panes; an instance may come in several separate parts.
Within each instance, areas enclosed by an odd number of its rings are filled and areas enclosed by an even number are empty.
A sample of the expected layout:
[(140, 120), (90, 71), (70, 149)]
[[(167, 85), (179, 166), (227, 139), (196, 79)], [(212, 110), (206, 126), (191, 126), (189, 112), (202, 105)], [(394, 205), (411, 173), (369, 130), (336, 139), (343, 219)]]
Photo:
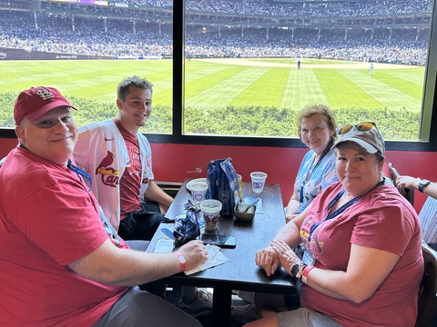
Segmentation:
[[(393, 117), (410, 122), (409, 134), (390, 126), (389, 139), (416, 139), (424, 67), (300, 59), (192, 59), (185, 62), (188, 134), (295, 136), (295, 116), (307, 104), (328, 104), (339, 124)], [(148, 131), (171, 133), (172, 61), (0, 62), (0, 126), (13, 126), (19, 91), (37, 85), (58, 88), (81, 110), (86, 124), (117, 113), (117, 84), (137, 74), (154, 84), (156, 121)], [(160, 110), (158, 110), (160, 109)], [(385, 118), (387, 121), (385, 121)], [(392, 123), (390, 123), (392, 124)], [(290, 127), (291, 126), (291, 127)], [(387, 129), (389, 126), (387, 126)], [(402, 132), (404, 133), (404, 132)]]

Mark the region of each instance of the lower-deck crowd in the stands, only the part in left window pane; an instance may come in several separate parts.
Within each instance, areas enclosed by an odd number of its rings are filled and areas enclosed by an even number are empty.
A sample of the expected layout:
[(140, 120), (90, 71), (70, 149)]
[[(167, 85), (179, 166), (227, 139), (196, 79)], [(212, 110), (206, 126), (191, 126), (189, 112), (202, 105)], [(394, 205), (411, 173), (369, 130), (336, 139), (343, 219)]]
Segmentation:
[(171, 26), (139, 22), (136, 34), (128, 21), (109, 21), (107, 33), (102, 20), (76, 18), (75, 31), (68, 18), (39, 20), (39, 30), (32, 28), (32, 17), (3, 20), (0, 46), (64, 54), (139, 56), (171, 54)]

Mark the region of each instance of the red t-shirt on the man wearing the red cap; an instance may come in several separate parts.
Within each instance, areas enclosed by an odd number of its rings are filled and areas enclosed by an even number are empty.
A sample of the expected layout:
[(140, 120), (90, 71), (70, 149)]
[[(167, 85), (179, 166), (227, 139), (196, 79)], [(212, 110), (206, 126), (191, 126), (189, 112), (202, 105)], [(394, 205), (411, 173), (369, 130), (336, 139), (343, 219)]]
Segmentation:
[(127, 287), (67, 266), (107, 240), (94, 195), (70, 169), (19, 147), (0, 169), (0, 185), (0, 325), (97, 322)]

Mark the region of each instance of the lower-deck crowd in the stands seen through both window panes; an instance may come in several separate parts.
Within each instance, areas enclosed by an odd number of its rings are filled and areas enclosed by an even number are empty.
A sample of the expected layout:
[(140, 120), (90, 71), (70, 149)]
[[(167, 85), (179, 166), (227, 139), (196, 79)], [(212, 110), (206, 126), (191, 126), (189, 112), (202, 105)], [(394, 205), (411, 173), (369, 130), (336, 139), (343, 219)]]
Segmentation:
[[(206, 1), (206, 0), (205, 0)], [(226, 1), (225, 1), (226, 2)], [(0, 46), (64, 54), (147, 56), (172, 54), (172, 25), (129, 20), (0, 13)], [(37, 29), (36, 29), (37, 26)], [(74, 26), (74, 30), (73, 30)], [(429, 29), (279, 29), (187, 26), (186, 53), (215, 57), (326, 57), (425, 64)]]

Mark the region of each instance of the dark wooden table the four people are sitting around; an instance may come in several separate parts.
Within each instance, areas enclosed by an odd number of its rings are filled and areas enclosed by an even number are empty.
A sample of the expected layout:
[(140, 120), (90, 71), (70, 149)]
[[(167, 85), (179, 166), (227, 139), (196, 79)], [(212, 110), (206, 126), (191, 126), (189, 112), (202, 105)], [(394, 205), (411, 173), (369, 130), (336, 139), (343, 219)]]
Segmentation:
[[(176, 218), (184, 214), (184, 203), (191, 199), (187, 190), (187, 179), (181, 186), (175, 200), (170, 205), (166, 217)], [(252, 193), (250, 183), (243, 183), (244, 198), (261, 198), (262, 213), (256, 213), (251, 223), (239, 222), (235, 217), (220, 217), (217, 225), (219, 234), (233, 235), (237, 238), (235, 249), (222, 248), (220, 251), (229, 258), (229, 263), (196, 272), (191, 275), (178, 273), (165, 278), (163, 282), (210, 287), (213, 292), (213, 326), (230, 326), (230, 307), (232, 290), (249, 292), (269, 292), (293, 295), (296, 284), (283, 268), (272, 276), (255, 264), (255, 252), (267, 246), (269, 241), (285, 224), (284, 208), (280, 186), (277, 183), (266, 183), (263, 193)], [(258, 212), (258, 209), (257, 209)], [(167, 238), (161, 228), (173, 230), (174, 223), (161, 223), (147, 251), (152, 252), (158, 239)], [(202, 228), (203, 233), (203, 228)]]

